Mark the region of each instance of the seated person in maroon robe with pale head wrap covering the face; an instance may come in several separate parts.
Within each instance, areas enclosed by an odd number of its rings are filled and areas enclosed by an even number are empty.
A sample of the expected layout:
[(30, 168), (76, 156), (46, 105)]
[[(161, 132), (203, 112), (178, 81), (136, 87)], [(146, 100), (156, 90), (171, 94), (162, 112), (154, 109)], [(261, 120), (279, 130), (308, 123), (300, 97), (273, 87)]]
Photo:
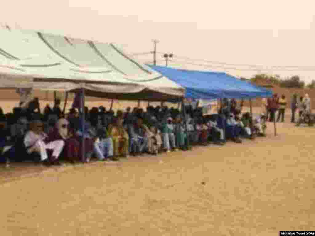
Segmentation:
[(80, 160), (80, 142), (69, 132), (69, 122), (61, 118), (55, 124), (55, 128), (48, 134), (48, 142), (55, 140), (63, 140), (65, 147), (63, 148), (61, 156), (67, 158), (70, 162), (74, 163)]

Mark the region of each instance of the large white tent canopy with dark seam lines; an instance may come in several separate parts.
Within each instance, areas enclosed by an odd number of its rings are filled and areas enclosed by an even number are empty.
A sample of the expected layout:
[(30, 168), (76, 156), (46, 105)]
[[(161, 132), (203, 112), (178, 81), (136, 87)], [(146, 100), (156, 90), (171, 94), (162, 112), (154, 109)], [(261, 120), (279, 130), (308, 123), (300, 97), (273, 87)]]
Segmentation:
[(2, 29), (0, 88), (77, 91), (113, 99), (180, 100), (184, 88), (111, 43)]

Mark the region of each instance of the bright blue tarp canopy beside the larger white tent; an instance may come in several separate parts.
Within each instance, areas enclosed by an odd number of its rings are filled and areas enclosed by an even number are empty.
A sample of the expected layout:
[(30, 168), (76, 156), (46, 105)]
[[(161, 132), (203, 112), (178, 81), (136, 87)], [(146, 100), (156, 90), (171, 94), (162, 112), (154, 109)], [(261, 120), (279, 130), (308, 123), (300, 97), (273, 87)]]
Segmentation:
[(239, 80), (222, 72), (148, 66), (182, 87), (185, 87), (186, 98), (211, 100), (218, 98), (249, 99), (272, 96), (272, 91), (270, 90), (253, 85), (247, 81)]

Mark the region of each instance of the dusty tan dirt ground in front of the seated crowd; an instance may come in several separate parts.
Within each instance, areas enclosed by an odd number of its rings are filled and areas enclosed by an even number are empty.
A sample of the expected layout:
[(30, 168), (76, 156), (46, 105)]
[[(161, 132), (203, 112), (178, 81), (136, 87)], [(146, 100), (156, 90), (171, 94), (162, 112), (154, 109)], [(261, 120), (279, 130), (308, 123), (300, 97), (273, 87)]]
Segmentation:
[[(254, 112), (258, 112), (254, 108)], [(0, 169), (0, 235), (278, 235), (315, 229), (315, 127), (243, 144)], [(37, 175), (26, 174), (37, 173)], [(46, 170), (42, 172), (43, 170)], [(19, 177), (20, 176), (20, 177)], [(204, 182), (204, 184), (202, 184)]]

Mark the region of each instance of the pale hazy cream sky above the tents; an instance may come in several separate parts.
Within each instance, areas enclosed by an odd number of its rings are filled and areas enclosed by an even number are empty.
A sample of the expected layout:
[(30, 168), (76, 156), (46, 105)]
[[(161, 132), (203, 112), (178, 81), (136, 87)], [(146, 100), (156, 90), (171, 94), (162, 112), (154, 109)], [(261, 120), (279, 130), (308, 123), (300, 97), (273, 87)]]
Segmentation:
[[(186, 69), (226, 71), (249, 77), (259, 71), (248, 66), (214, 64), (257, 64), (309, 67), (308, 71), (261, 71), (281, 76), (300, 75), (315, 79), (315, 1), (239, 0), (10, 0), (1, 4), (0, 22), (13, 28), (38, 30), (122, 45), (128, 53), (153, 50), (192, 58), (170, 66)], [(152, 55), (136, 56), (152, 62)], [(157, 55), (159, 64), (164, 64)], [(293, 70), (294, 68), (281, 68)], [(301, 68), (298, 68), (301, 70)], [(302, 68), (303, 69), (303, 68)], [(306, 68), (307, 69), (307, 68)], [(295, 69), (297, 70), (297, 69)], [(313, 71), (312, 71), (313, 70)]]

